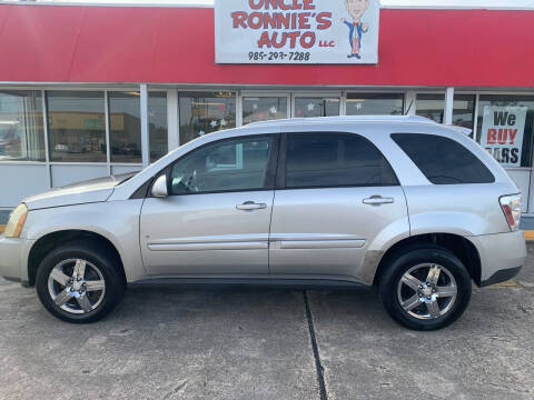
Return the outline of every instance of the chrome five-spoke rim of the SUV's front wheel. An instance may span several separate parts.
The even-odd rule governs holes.
[[[48,277],[48,292],[53,302],[70,313],[95,310],[106,294],[106,281],[100,270],[87,260],[63,260]]]

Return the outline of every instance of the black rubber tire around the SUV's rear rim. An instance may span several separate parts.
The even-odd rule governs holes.
[[[459,261],[451,251],[438,246],[421,244],[395,253],[386,262],[386,268],[379,280],[379,296],[387,313],[402,326],[413,330],[431,331],[449,326],[464,313],[471,300],[471,277],[462,261]],[[403,276],[409,269],[426,263],[439,264],[448,270],[454,277],[457,288],[456,298],[448,311],[444,312],[443,316],[432,319],[416,318],[405,311],[397,296],[399,290],[398,284]],[[447,279],[447,276],[441,279]],[[424,282],[424,284],[426,284],[426,282]],[[417,292],[414,293],[414,297],[416,294]],[[419,308],[412,310],[412,313],[422,312],[418,310],[425,310],[427,304],[421,303],[421,306],[417,307]],[[443,308],[443,311],[445,310],[446,307]]]

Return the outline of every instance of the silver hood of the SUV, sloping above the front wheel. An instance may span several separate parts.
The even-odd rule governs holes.
[[[28,206],[29,210],[101,202],[108,200],[117,184],[132,176],[134,173],[126,173],[68,184],[41,194],[31,196],[22,202]]]

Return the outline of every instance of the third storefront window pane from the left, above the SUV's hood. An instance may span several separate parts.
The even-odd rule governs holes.
[[[139,92],[108,92],[111,162],[142,163]]]

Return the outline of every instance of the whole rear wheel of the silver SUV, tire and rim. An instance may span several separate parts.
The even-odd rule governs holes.
[[[471,299],[471,277],[448,250],[425,247],[398,253],[379,292],[394,320],[414,330],[436,330],[457,320]]]

